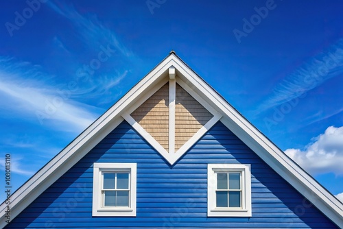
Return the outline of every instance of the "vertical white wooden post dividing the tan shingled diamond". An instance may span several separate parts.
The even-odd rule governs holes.
[[[169,154],[175,153],[175,97],[176,80],[174,78],[169,80]]]

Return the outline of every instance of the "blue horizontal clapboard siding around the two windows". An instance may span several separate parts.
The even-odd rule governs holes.
[[[137,162],[137,217],[92,217],[93,162]],[[208,163],[249,163],[252,217],[206,217]],[[173,167],[123,121],[7,228],[336,228],[218,122]]]

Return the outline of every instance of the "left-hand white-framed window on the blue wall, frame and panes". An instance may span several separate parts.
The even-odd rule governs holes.
[[[94,163],[93,216],[136,216],[137,164]]]

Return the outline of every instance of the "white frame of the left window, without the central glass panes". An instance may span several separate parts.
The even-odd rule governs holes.
[[[102,185],[104,172],[128,172],[129,206],[103,206]],[[94,163],[93,164],[93,216],[136,216],[137,163]]]

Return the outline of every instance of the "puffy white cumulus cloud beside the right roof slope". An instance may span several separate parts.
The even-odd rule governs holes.
[[[343,126],[330,126],[305,149],[286,149],[285,154],[312,175],[335,173],[343,175]]]

